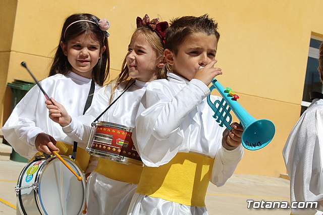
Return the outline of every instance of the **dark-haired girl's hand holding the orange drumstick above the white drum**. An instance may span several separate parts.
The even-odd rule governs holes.
[[[37,151],[51,154],[52,151],[59,151],[60,149],[55,146],[56,140],[46,133],[39,133],[35,140],[35,147]]]

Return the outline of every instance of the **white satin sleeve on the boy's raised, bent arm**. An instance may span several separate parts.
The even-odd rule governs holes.
[[[150,167],[167,164],[177,154],[183,141],[180,124],[210,92],[197,79],[179,92],[172,90],[163,87],[162,82],[151,82],[139,105],[137,147],[141,159]]]

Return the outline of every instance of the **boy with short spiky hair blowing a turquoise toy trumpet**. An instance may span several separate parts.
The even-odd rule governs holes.
[[[128,214],[207,214],[208,182],[222,186],[243,155],[243,128],[228,131],[207,104],[220,34],[207,15],[172,21],[165,39],[168,80],[146,88],[136,118],[135,146],[144,163]],[[212,99],[220,99],[211,96]]]

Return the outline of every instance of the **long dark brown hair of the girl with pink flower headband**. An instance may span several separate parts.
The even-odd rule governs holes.
[[[69,16],[64,22],[60,43],[62,41],[66,44],[69,40],[86,33],[92,34],[95,37],[93,39],[99,41],[100,49],[105,45],[105,51],[102,53],[101,58],[98,60],[97,64],[94,66],[92,71],[92,79],[98,85],[102,86],[107,76],[109,75],[110,70],[110,51],[107,38],[104,36],[100,28],[96,24],[91,22],[77,22],[69,26],[71,23],[78,20],[93,21],[92,17],[95,17],[97,20],[99,20],[96,16],[93,16],[92,14],[73,14]],[[66,30],[67,27],[68,29]],[[55,53],[55,57],[53,58],[48,76],[56,74],[64,75],[69,73],[71,70],[72,66],[69,63],[67,56],[64,55],[63,49],[59,44]]]

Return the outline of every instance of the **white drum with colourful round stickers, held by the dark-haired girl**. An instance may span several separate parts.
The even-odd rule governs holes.
[[[73,160],[62,157],[82,177],[82,181],[78,181],[56,156],[33,160],[20,173],[15,188],[21,214],[82,213],[86,196],[85,177]]]

